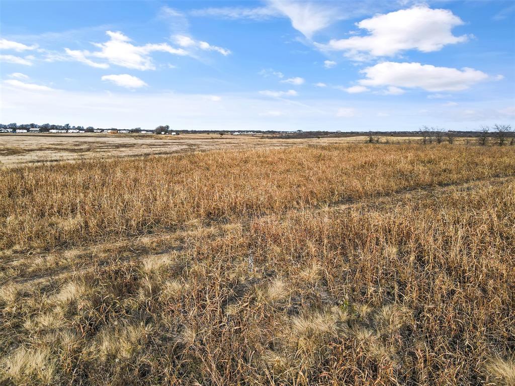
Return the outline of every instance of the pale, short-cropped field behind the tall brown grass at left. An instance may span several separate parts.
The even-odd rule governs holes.
[[[404,138],[405,139],[405,138]],[[402,139],[401,139],[402,140]],[[271,148],[365,142],[365,137],[284,139],[265,135],[183,134],[2,134],[0,166],[13,167],[85,159],[169,155],[216,149]]]

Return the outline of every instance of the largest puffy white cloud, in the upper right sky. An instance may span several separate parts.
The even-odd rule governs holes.
[[[331,40],[317,44],[323,50],[346,51],[355,60],[367,57],[393,56],[399,52],[417,49],[422,52],[438,51],[444,45],[467,41],[468,36],[454,36],[452,29],[464,22],[446,9],[415,6],[380,14],[357,23],[368,31],[367,36]]]

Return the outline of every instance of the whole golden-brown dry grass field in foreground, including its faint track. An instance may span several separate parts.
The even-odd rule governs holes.
[[[276,146],[0,169],[0,383],[515,384],[515,147]]]

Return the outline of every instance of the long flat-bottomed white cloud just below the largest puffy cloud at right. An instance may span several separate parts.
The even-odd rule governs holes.
[[[361,71],[364,86],[418,87],[426,91],[460,91],[488,75],[473,68],[435,67],[430,64],[383,62]]]

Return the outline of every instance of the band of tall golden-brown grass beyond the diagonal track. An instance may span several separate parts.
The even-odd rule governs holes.
[[[357,146],[215,151],[0,171],[0,248],[52,249],[502,176],[511,148]]]

